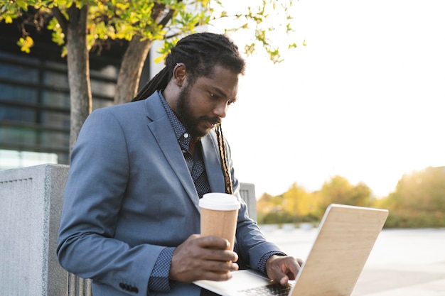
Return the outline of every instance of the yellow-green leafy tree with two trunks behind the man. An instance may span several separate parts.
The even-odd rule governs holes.
[[[68,81],[70,86],[71,128],[70,150],[73,148],[80,127],[92,110],[90,87],[90,50],[100,47],[110,40],[127,40],[127,49],[122,59],[114,97],[116,104],[129,102],[137,92],[141,70],[147,53],[154,40],[164,40],[161,53],[178,40],[178,36],[195,32],[215,18],[233,18],[235,27],[230,30],[252,28],[255,39],[246,46],[247,53],[252,53],[259,43],[269,53],[273,62],[279,62],[278,48],[274,48],[268,36],[274,31],[265,26],[268,18],[267,9],[280,10],[283,19],[289,22],[288,8],[292,1],[262,0],[257,6],[247,6],[247,11],[229,14],[222,9],[221,1],[212,1],[220,8],[215,15],[215,8],[210,0],[0,0],[0,21],[12,23],[18,20],[23,25],[23,38],[18,45],[29,52],[33,45],[26,26],[46,27],[53,31],[53,41],[63,49],[62,55],[68,58]],[[253,26],[253,27],[252,27]],[[289,23],[283,24],[289,32]],[[295,47],[289,45],[289,47]]]

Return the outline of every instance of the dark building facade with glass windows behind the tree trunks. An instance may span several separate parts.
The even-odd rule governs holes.
[[[29,28],[32,31],[32,28]],[[69,164],[70,91],[66,59],[49,31],[31,32],[31,53],[22,53],[14,24],[0,23],[0,170],[43,163]],[[115,42],[90,53],[93,109],[113,104],[124,53]],[[149,59],[141,82],[149,77]]]

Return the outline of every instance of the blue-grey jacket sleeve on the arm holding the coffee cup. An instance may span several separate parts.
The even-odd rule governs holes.
[[[146,295],[165,248],[114,239],[127,187],[129,157],[119,122],[102,109],[82,126],[72,152],[58,234],[60,265],[70,273],[134,295]]]

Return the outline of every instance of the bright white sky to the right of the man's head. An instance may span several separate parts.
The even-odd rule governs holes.
[[[247,58],[223,121],[238,179],[259,198],[341,175],[383,197],[404,173],[445,165],[445,1],[300,0],[293,11],[298,47],[280,65]]]

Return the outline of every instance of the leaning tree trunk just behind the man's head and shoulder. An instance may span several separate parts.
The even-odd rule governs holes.
[[[136,97],[142,68],[149,54],[150,47],[151,40],[141,41],[141,38],[136,35],[129,42],[122,59],[119,76],[117,77],[114,104],[130,102]]]

